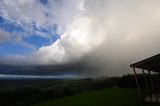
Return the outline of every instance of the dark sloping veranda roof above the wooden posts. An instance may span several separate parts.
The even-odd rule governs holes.
[[[137,63],[131,64],[130,67],[150,70],[154,72],[160,72],[160,54],[139,61]]]

